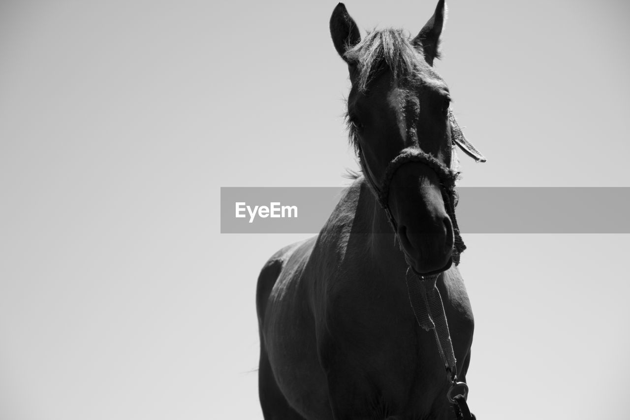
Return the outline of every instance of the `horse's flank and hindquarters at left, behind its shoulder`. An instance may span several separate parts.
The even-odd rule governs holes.
[[[288,416],[282,412],[277,414],[281,417],[273,418],[331,418],[325,377],[316,354],[307,288],[312,276],[306,267],[315,240],[309,238],[279,250],[265,264],[258,279],[261,366],[266,369],[260,372],[266,375],[265,401],[273,410],[284,407],[294,413]],[[276,394],[273,390],[277,390]],[[275,395],[277,400],[272,398],[269,402],[269,395]]]

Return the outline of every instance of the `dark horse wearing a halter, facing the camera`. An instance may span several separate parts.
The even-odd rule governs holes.
[[[433,68],[444,19],[440,0],[416,37],[385,29],[362,39],[342,3],[333,11],[361,174],[319,234],[273,254],[258,277],[266,420],[462,418],[450,393],[466,380],[474,318],[457,267],[455,145],[485,159]],[[421,302],[441,298],[438,313],[414,305],[414,288]]]

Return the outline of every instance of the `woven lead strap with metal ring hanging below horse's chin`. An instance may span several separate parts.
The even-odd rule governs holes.
[[[457,420],[475,420],[474,414],[468,409],[466,397],[468,395],[468,385],[465,382],[457,382],[457,360],[453,350],[453,342],[450,339],[449,324],[442,303],[442,296],[437,288],[437,279],[440,274],[430,276],[418,275],[418,281],[414,281],[410,276],[411,269],[408,267],[406,273],[407,290],[411,308],[416,316],[418,325],[425,331],[433,330],[438,353],[444,363],[447,380],[450,383],[447,399],[453,404]],[[410,281],[411,277],[411,281]],[[454,392],[457,392],[453,396]]]

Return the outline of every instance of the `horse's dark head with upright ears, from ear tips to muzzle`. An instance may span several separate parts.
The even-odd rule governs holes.
[[[333,44],[352,82],[350,141],[418,274],[447,269],[454,254],[456,122],[449,88],[433,68],[444,19],[440,0],[416,37],[386,29],[363,40],[342,3],[330,20]]]

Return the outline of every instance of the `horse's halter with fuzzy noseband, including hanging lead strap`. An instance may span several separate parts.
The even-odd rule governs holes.
[[[440,181],[440,192],[442,193],[442,199],[444,200],[444,207],[449,215],[453,233],[454,244],[451,252],[449,262],[445,267],[437,271],[420,274],[416,272],[409,260],[405,255],[405,259],[408,264],[406,272],[407,291],[409,293],[409,299],[411,308],[416,317],[416,321],[424,330],[433,330],[435,334],[435,342],[437,344],[438,353],[444,363],[444,368],[447,373],[447,380],[450,383],[449,391],[447,392],[447,399],[455,411],[457,419],[475,419],[474,414],[468,409],[466,398],[468,395],[468,386],[465,382],[457,381],[457,360],[455,359],[455,352],[453,350],[453,343],[450,339],[449,324],[444,311],[444,304],[442,303],[442,296],[438,290],[436,283],[438,277],[442,272],[447,271],[455,262],[455,265],[459,265],[460,254],[466,249],[464,241],[462,240],[459,226],[457,225],[457,219],[455,219],[455,206],[457,206],[458,195],[455,191],[455,181],[459,177],[457,172],[457,153],[455,152],[455,146],[459,146],[467,155],[473,157],[478,162],[486,161],[486,158],[469,143],[464,137],[455,116],[449,108],[449,122],[451,130],[451,149],[450,149],[450,165],[447,167],[444,163],[440,162],[435,156],[429,155],[420,149],[419,146],[413,146],[403,149],[398,156],[392,159],[387,167],[380,183],[376,183],[374,175],[370,171],[370,168],[365,164],[365,158],[363,151],[359,147],[360,165],[365,178],[370,185],[370,188],[374,191],[379,204],[387,214],[387,219],[394,230],[394,235],[398,237],[398,224],[396,219],[389,209],[389,189],[391,185],[394,173],[400,166],[409,162],[420,162],[427,165],[435,172]],[[418,277],[419,281],[414,281],[413,277],[410,281],[410,271]]]

